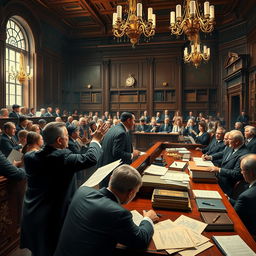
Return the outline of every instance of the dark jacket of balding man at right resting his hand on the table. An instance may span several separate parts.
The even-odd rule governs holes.
[[[240,158],[249,153],[245,145],[240,147],[235,153],[233,148],[228,148],[223,154],[221,171],[218,174],[218,182],[224,193],[229,197],[232,194],[235,183],[243,179],[240,171]]]

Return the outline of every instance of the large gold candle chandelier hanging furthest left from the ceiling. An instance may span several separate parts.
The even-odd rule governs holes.
[[[134,47],[143,34],[151,37],[155,34],[156,15],[153,9],[148,8],[148,21],[142,18],[142,4],[137,0],[129,0],[129,10],[127,19],[122,19],[122,6],[117,6],[117,12],[113,13],[113,34],[115,37],[127,35]]]

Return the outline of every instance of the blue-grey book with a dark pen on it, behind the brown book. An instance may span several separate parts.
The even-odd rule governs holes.
[[[196,199],[198,211],[200,212],[226,212],[226,207],[219,199]]]

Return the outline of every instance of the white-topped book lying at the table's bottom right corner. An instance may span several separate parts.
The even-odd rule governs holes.
[[[212,240],[225,256],[256,256],[239,235],[213,236]]]

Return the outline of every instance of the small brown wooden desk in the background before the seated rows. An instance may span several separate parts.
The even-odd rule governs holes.
[[[140,150],[146,151],[149,147],[153,146],[156,142],[178,142],[179,133],[166,133],[166,132],[134,132],[132,134],[133,146]]]

